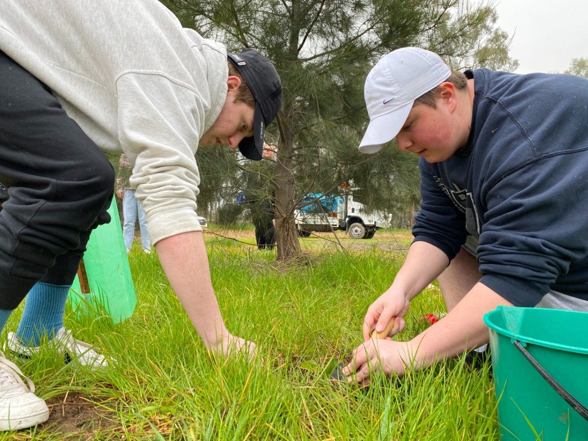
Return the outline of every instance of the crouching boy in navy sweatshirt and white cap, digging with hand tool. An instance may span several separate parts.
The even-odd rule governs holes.
[[[588,79],[452,73],[438,55],[402,48],[372,69],[365,98],[360,151],[396,138],[419,155],[422,202],[406,261],[369,307],[344,373],[368,382],[477,348],[499,305],[588,311]],[[434,279],[442,320],[409,342],[370,340],[392,319],[389,336],[400,332]]]

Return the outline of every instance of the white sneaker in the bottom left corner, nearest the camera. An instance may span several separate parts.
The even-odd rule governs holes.
[[[49,419],[49,407],[34,392],[33,382],[0,352],[0,430],[25,429]]]

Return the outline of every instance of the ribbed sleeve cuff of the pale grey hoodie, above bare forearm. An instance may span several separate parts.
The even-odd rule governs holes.
[[[147,232],[151,243],[191,231],[202,231],[198,214],[189,207],[154,213],[147,219]]]

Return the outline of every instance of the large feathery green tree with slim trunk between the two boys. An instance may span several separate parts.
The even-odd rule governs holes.
[[[414,203],[416,160],[383,149],[358,152],[368,123],[363,82],[380,56],[420,46],[454,68],[516,68],[492,4],[460,0],[164,0],[181,19],[230,50],[256,48],[275,65],[282,109],[266,141],[277,146],[268,191],[275,194],[278,258],[299,253],[293,212],[308,192],[352,183],[376,206]]]

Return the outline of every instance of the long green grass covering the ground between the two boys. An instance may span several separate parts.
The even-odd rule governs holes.
[[[316,252],[286,267],[275,251],[207,235],[226,325],[257,343],[253,365],[207,352],[155,254],[133,250],[138,303],[131,319],[113,325],[66,313],[66,327],[117,362],[92,372],[62,365],[51,350],[19,361],[51,403],[51,419],[0,439],[498,439],[493,383],[463,360],[379,377],[365,389],[330,385],[333,363],[361,342],[365,311],[403,255],[372,245],[338,252],[308,241],[303,248]],[[442,310],[439,290],[427,289],[398,338],[419,333],[423,313]]]

